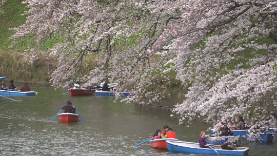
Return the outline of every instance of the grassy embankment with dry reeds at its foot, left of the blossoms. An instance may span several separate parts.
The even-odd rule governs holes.
[[[48,82],[49,73],[55,67],[52,61],[43,57],[34,64],[24,61],[23,52],[28,48],[27,43],[32,44],[32,38],[19,41],[16,47],[9,48],[12,43],[9,36],[13,33],[10,29],[24,24],[26,20],[26,16],[22,16],[22,13],[27,8],[21,2],[21,0],[9,0],[2,7],[3,13],[0,14],[0,75],[7,76],[8,80]]]

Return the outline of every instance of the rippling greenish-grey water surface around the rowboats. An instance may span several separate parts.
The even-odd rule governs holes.
[[[16,84],[21,86],[22,84]],[[114,103],[114,97],[62,95],[48,85],[31,84],[35,97],[0,99],[0,155],[195,155],[170,153],[135,143],[147,140],[156,129],[168,124],[177,139],[197,142],[209,125],[195,121],[179,125],[166,110]],[[67,100],[71,100],[85,122],[51,122]],[[250,143],[249,155],[277,155],[277,139],[270,144]]]

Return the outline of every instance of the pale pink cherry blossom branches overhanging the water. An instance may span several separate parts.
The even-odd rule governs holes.
[[[11,39],[34,37],[28,59],[43,52],[58,59],[54,87],[76,79],[96,84],[108,78],[135,95],[125,102],[159,102],[163,89],[181,81],[183,103],[172,111],[180,123],[205,116],[214,126],[240,115],[265,129],[277,110],[277,2],[193,1],[34,1],[27,21]],[[43,47],[56,40],[50,49]],[[97,65],[82,74],[84,59]],[[162,83],[156,80],[162,80]],[[153,84],[161,86],[152,88]],[[151,88],[151,89],[149,89]],[[148,99],[148,102],[144,102]]]

